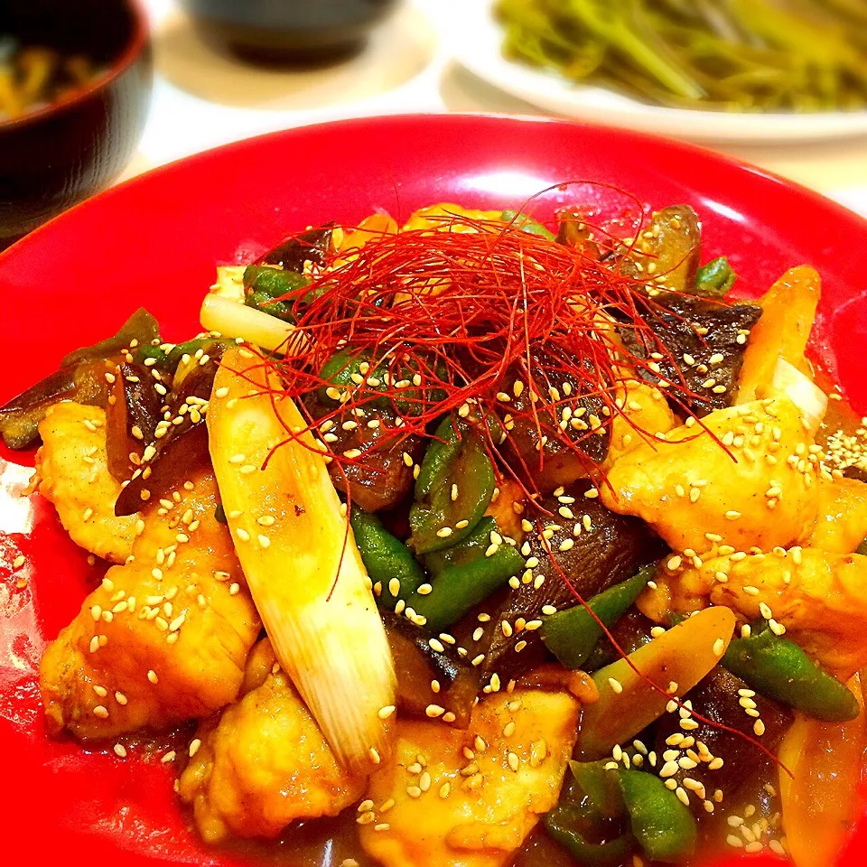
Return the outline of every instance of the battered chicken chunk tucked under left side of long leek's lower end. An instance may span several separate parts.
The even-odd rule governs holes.
[[[208,843],[228,834],[274,837],[296,819],[336,816],[364,791],[366,779],[340,767],[292,681],[273,670],[275,660],[264,639],[247,667],[245,683],[254,688],[219,722],[204,723],[182,774],[181,797]]]

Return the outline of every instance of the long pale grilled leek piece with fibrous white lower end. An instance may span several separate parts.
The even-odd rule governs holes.
[[[238,559],[277,658],[332,750],[369,769],[387,749],[379,711],[394,704],[394,667],[368,574],[306,427],[261,358],[228,350],[208,433]]]

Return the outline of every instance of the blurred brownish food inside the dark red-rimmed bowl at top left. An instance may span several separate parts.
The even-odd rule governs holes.
[[[0,122],[14,120],[85,89],[104,70],[83,54],[23,45],[0,33]]]

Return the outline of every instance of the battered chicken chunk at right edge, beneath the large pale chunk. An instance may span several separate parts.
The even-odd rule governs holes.
[[[711,601],[748,622],[770,614],[789,639],[841,679],[867,665],[867,556],[817,548],[735,554],[669,581],[672,611],[695,611]],[[666,593],[658,580],[657,586],[656,593]],[[641,608],[649,613],[647,605]]]

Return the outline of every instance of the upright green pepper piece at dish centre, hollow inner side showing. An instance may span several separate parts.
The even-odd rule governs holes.
[[[416,554],[439,551],[469,536],[489,506],[494,484],[494,467],[480,434],[446,416],[415,480],[409,545]]]

